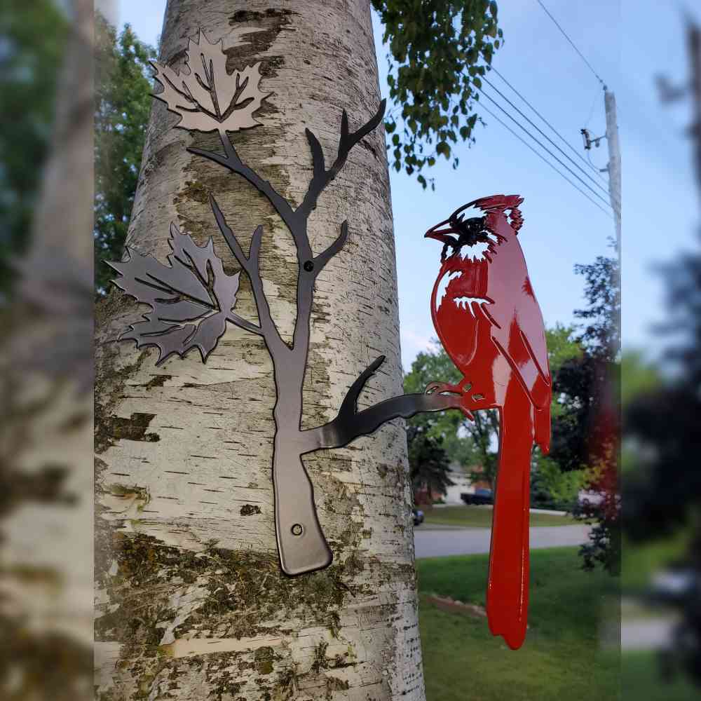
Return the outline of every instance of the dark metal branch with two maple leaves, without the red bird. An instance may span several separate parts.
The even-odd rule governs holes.
[[[262,336],[273,361],[277,390],[273,410],[275,533],[283,571],[298,575],[332,562],[332,552],[318,522],[313,486],[302,456],[320,448],[343,447],[359,436],[373,433],[393,418],[408,418],[420,411],[459,408],[461,397],[438,393],[401,395],[358,411],[360,393],[385,360],[381,355],[353,382],[336,418],[316,428],[301,429],[302,387],[315,281],[348,240],[348,222],[343,222],[334,243],[315,255],[307,235],[308,217],[322,191],[343,168],[351,149],[381,122],[385,101],[381,102],[376,114],[355,131],[351,131],[348,115],[343,111],[338,154],[330,168],[326,167],[317,137],[306,130],[313,177],[302,203],[295,209],[269,182],[241,161],[227,133],[257,125],[253,113],[266,97],[259,90],[259,64],[232,75],[226,72],[225,64],[223,47],[210,43],[200,32],[198,41],[188,43],[186,66],[182,72],[154,64],[156,80],[163,86],[163,91],[154,97],[163,100],[170,111],[181,117],[178,128],[217,130],[224,154],[203,149],[188,150],[245,178],[268,198],[290,230],[299,265],[297,319],[292,345],[285,343],[280,336],[261,280],[259,257],[263,228],[258,226],[254,231],[246,254],[214,196],[210,196],[212,212],[219,231],[250,280],[258,324],[233,313],[239,273],[233,276],[224,273],[211,239],[204,247],[198,247],[189,236],[172,225],[170,245],[173,252],[168,256],[169,266],[130,250],[125,261],[110,264],[121,273],[121,277],[113,282],[138,301],[149,304],[152,310],[144,315],[144,321],[132,325],[120,338],[135,340],[138,347],[157,346],[160,363],[169,355],[182,356],[192,348],[198,348],[203,361],[206,360],[224,334],[227,322]]]

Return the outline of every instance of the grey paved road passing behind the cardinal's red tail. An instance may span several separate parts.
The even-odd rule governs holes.
[[[591,526],[537,526],[531,529],[531,548],[580,545]],[[416,557],[443,557],[489,552],[491,529],[436,528],[422,524],[414,529]]]

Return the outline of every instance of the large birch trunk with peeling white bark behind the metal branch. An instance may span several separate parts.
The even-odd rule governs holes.
[[[304,129],[327,162],[341,112],[351,128],[376,112],[369,1],[169,0],[161,63],[182,65],[187,38],[223,39],[229,70],[262,61],[262,126],[232,142],[290,203],[313,177]],[[173,130],[156,104],[128,245],[161,261],[175,222],[212,236],[224,271],[239,265],[209,203],[216,196],[243,250],[264,227],[261,278],[288,343],[297,252],[266,198],[191,152],[216,133]],[[395,251],[382,128],[358,144],[308,221],[315,252],[348,219],[349,238],[315,280],[301,428],[336,416],[378,355],[359,408],[402,393]],[[236,311],[255,322],[248,280]],[[259,336],[229,327],[203,365],[196,353],[156,367],[154,351],[114,343],[143,307],[112,294],[98,311],[96,404],[97,697],[423,700],[406,442],[388,423],[350,447],[304,456],[334,555],[322,571],[280,571],[271,465],[275,384]]]

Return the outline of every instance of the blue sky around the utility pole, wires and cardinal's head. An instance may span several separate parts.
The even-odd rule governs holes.
[[[687,79],[681,11],[676,4],[655,0],[544,3],[618,101],[623,343],[624,348],[643,348],[655,355],[663,339],[655,334],[653,325],[664,319],[665,301],[663,280],[653,267],[695,246],[698,224],[690,142],[685,135],[689,104],[660,104],[654,83],[657,74],[666,75],[674,84]],[[120,25],[129,22],[141,39],[155,43],[164,8],[165,0],[120,0],[116,19]],[[536,0],[500,1],[499,21],[505,43],[494,57],[498,71],[576,149],[581,150],[583,126],[594,135],[603,134],[601,86]],[[379,45],[379,22],[375,22],[375,39]],[[378,46],[384,93],[385,55]],[[491,74],[489,79],[549,133],[498,76]],[[491,103],[485,104],[509,121]],[[548,325],[572,322],[573,309],[583,306],[583,280],[573,273],[574,264],[611,252],[607,247],[614,233],[611,219],[494,118],[485,114],[484,121],[486,127],[476,130],[475,145],[469,149],[458,145],[458,170],[440,158],[440,164],[428,172],[435,177],[435,192],[422,191],[412,177],[392,171],[405,368],[435,336],[428,300],[439,251],[433,242],[423,240],[423,232],[458,205],[494,193],[524,196],[525,224],[519,238]],[[606,165],[605,141],[601,148],[592,149],[591,157],[597,166]]]

